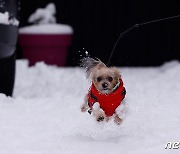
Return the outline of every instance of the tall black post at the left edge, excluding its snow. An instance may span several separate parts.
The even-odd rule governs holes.
[[[0,13],[8,12],[9,20],[17,19],[17,0],[0,0]],[[18,27],[0,23],[0,93],[12,96],[15,80],[15,49]]]

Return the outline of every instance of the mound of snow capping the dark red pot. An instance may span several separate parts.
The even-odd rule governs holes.
[[[56,6],[49,3],[45,8],[37,9],[30,15],[28,22],[35,25],[19,29],[20,34],[72,34],[73,29],[69,25],[56,24]]]

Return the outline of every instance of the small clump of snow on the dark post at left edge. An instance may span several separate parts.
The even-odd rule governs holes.
[[[15,17],[11,17],[9,12],[0,12],[0,24],[19,26],[19,21]]]

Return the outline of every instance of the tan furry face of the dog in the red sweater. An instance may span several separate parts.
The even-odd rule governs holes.
[[[91,73],[92,82],[96,89],[102,94],[110,94],[119,82],[120,74],[116,68],[106,66],[95,67]]]

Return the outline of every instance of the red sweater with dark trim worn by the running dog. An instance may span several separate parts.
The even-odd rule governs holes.
[[[122,100],[126,95],[126,90],[123,86],[122,79],[120,80],[120,85],[115,89],[113,93],[110,94],[101,94],[94,86],[91,85],[88,93],[88,104],[92,109],[92,106],[95,102],[98,102],[100,108],[105,112],[106,116],[112,116],[116,108],[121,104]]]

